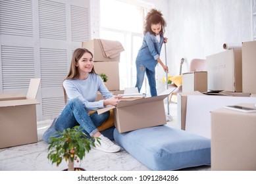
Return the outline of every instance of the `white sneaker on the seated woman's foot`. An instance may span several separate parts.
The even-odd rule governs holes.
[[[102,150],[104,152],[118,152],[120,150],[120,147],[118,145],[115,145],[111,140],[109,140],[107,137],[104,135],[99,136],[99,142],[95,140],[95,147],[94,149],[96,150]]]

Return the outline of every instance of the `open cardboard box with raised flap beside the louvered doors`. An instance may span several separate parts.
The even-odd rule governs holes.
[[[36,94],[40,79],[30,80],[26,96],[20,93],[0,94],[0,149],[36,143]]]

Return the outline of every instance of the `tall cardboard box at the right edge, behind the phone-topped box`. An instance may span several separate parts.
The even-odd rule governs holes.
[[[256,93],[256,41],[242,43],[243,93]]]

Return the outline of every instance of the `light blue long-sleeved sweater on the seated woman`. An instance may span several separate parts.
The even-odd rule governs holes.
[[[101,77],[97,74],[89,73],[86,80],[64,80],[63,87],[66,90],[67,100],[70,101],[70,99],[78,97],[84,104],[87,112],[104,107],[103,100],[95,101],[97,91],[99,91],[105,99],[113,97]]]

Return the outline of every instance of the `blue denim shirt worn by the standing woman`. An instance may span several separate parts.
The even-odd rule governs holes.
[[[159,43],[155,35],[146,32],[143,37],[143,43],[140,47],[136,60],[138,60],[139,62],[144,64],[146,68],[154,72],[155,66],[157,66],[157,58],[160,57],[163,42],[163,35],[160,35]]]

